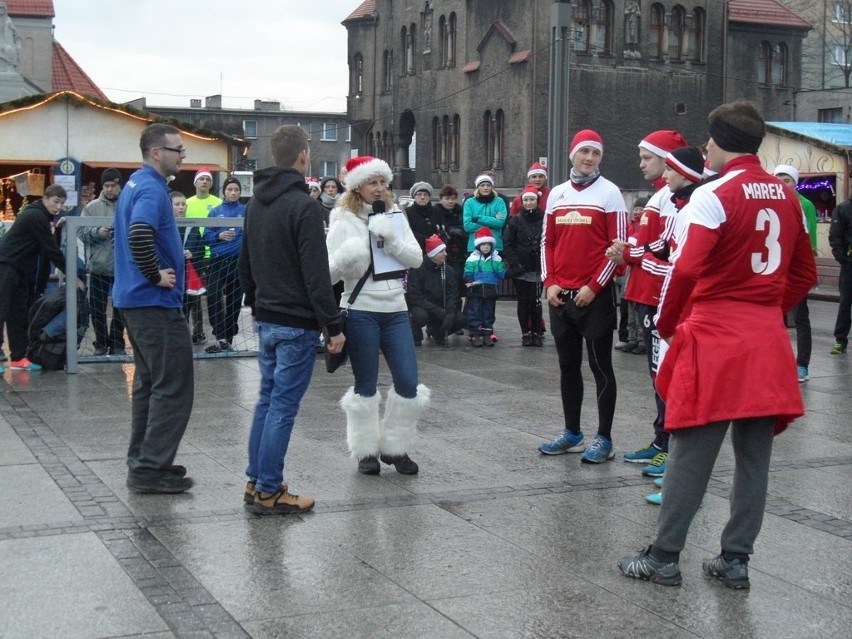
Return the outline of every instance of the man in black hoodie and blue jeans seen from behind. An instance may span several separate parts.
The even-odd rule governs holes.
[[[311,381],[319,331],[339,353],[346,338],[325,247],[322,206],[305,184],[308,137],[281,126],[270,141],[275,166],[254,174],[240,250],[240,281],[256,320],[260,399],[249,435],[244,502],[258,514],[305,512],[311,497],[289,492],[284,457],[299,404]]]

